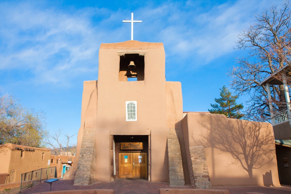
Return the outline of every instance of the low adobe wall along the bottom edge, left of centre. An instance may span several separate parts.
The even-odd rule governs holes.
[[[114,189],[88,189],[88,190],[68,190],[68,191],[48,191],[33,194],[113,194]]]

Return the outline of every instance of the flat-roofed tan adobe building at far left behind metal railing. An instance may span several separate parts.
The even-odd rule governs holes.
[[[15,149],[15,147],[22,149],[22,157],[22,151]],[[25,151],[24,148],[34,149],[34,151]],[[19,182],[22,173],[47,167],[48,160],[50,160],[50,150],[9,143],[0,145],[0,159],[3,161],[0,173],[9,174],[7,183]]]

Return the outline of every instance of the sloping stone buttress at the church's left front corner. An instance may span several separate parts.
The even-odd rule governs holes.
[[[74,185],[89,185],[95,181],[95,129],[85,128]]]

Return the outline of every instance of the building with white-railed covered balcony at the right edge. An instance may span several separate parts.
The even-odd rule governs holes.
[[[290,71],[289,64],[284,65],[274,74],[264,79],[260,85],[267,88],[268,104],[270,111],[270,120],[274,129],[274,137],[276,144],[276,158],[278,164],[278,172],[281,184],[291,184],[291,166],[288,161],[291,160],[291,104],[290,104]],[[274,103],[271,86],[283,86],[285,102],[281,103],[281,110],[278,110]]]

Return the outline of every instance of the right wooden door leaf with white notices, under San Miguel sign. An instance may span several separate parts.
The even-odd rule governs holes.
[[[133,153],[133,178],[147,178],[147,160],[146,152]]]

